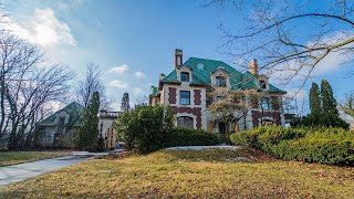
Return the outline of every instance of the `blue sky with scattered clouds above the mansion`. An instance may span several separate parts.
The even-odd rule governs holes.
[[[136,97],[148,94],[152,84],[157,84],[159,73],[174,69],[176,48],[184,50],[184,60],[197,56],[231,63],[230,57],[217,52],[221,44],[218,25],[227,22],[237,28],[242,23],[229,10],[202,8],[200,1],[191,0],[12,0],[7,3],[13,29],[43,48],[48,61],[66,64],[79,76],[88,62],[98,64],[107,95],[115,98],[115,109],[124,92],[129,92],[134,103]],[[336,62],[329,64],[311,81],[320,83],[321,78],[327,78],[341,101],[344,93],[353,90],[350,86],[353,78],[343,78],[352,70],[350,65],[335,65]],[[302,90],[305,100],[311,81]],[[295,90],[289,85],[282,88]]]

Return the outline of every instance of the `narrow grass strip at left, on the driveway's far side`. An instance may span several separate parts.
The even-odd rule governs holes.
[[[70,151],[0,151],[0,167],[70,155]]]

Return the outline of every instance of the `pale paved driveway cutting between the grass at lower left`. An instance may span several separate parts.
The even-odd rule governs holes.
[[[90,158],[91,157],[87,156],[64,156],[53,159],[0,167],[0,187],[67,167]]]

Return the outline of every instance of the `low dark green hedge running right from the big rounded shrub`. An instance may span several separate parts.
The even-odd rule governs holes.
[[[220,143],[220,137],[205,130],[177,127],[170,129],[164,138],[164,147],[174,146],[208,146]]]

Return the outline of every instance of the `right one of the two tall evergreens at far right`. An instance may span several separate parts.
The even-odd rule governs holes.
[[[333,90],[326,80],[321,82],[322,107],[325,113],[339,114],[336,101],[333,96]]]

